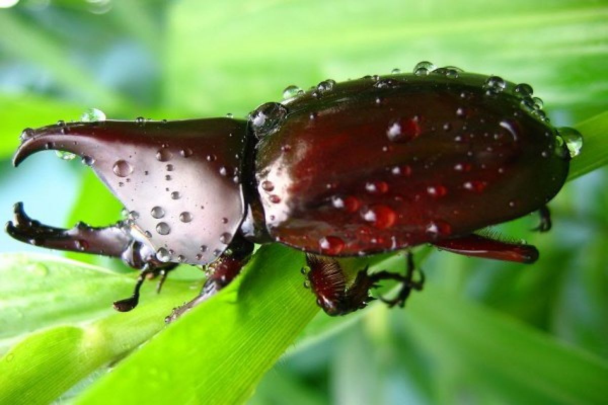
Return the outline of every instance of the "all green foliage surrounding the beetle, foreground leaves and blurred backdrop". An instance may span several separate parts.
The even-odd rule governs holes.
[[[41,154],[13,171],[26,126],[89,107],[123,119],[243,117],[289,84],[421,60],[530,83],[554,123],[586,136],[573,174],[606,163],[606,2],[21,0],[0,9],[0,216],[24,200],[57,225],[119,217],[78,162]],[[140,307],[114,313],[133,285],[122,265],[38,256],[2,235],[1,250],[28,253],[0,256],[0,403],[606,403],[606,185],[605,169],[568,183],[548,234],[529,231],[535,216],[502,226],[539,247],[534,265],[423,248],[429,282],[405,310],[337,319],[302,287],[302,254],[278,245],[163,329],[196,294],[198,271],[181,269],[160,296],[147,285]]]

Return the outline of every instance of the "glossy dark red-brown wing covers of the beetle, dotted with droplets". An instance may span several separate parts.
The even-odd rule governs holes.
[[[455,72],[455,74],[454,74]],[[322,83],[255,121],[268,232],[350,256],[471,233],[547,203],[568,172],[527,85],[451,69]],[[272,134],[272,136],[269,136]]]

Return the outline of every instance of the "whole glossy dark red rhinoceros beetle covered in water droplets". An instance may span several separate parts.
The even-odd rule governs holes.
[[[467,256],[532,263],[535,247],[479,230],[541,214],[568,174],[573,129],[556,129],[527,84],[455,67],[416,65],[345,83],[286,89],[247,119],[73,122],[26,129],[14,163],[44,149],[80,155],[130,216],[94,228],[52,228],[21,203],[8,233],[33,245],[120,257],[147,277],[178,264],[207,265],[198,297],[234,279],[254,243],[304,251],[309,284],[330,315],[365,307],[383,280],[420,290],[412,255],[404,274],[359,271],[347,279],[336,257],[368,256],[430,243]],[[568,136],[566,140],[564,137]],[[576,151],[574,151],[576,153]],[[160,285],[159,284],[159,285]]]

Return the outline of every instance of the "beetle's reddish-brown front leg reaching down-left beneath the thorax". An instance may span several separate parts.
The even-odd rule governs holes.
[[[181,307],[174,308],[171,314],[165,318],[165,322],[168,324],[175,321],[179,316],[196,307],[201,302],[206,301],[206,299],[230,284],[241,273],[241,269],[247,263],[253,251],[253,242],[249,242],[249,240],[244,239],[240,235],[233,237],[232,242],[230,242],[224,253],[207,267],[209,277],[207,277],[205,284],[202,286],[201,293],[195,299],[192,299],[192,301],[186,302]]]

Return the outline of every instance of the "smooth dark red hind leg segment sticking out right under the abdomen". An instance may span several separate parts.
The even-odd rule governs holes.
[[[470,234],[433,242],[437,247],[466,256],[484,257],[486,259],[505,260],[530,264],[538,259],[538,250],[525,243],[510,243],[489,237]]]

